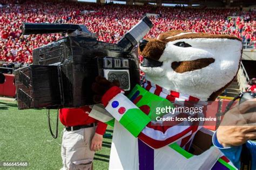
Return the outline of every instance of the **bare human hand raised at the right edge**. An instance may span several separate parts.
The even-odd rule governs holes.
[[[227,111],[217,130],[217,139],[224,147],[240,146],[256,139],[256,112],[246,113],[256,107],[256,98],[245,101]]]

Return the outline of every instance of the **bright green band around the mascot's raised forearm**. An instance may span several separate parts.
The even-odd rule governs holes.
[[[139,109],[127,110],[119,121],[134,137],[137,137],[149,122],[150,117]]]

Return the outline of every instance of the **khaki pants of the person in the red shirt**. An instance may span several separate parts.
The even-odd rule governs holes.
[[[90,146],[95,130],[96,126],[76,131],[64,129],[62,138],[63,170],[92,169],[95,152],[90,150]]]

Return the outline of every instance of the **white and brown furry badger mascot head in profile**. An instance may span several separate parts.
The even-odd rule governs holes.
[[[241,51],[234,36],[173,30],[140,41],[140,69],[167,90],[213,101],[237,75]]]

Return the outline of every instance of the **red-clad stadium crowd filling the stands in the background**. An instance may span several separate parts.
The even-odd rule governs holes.
[[[91,32],[97,33],[98,40],[116,43],[145,13],[158,13],[158,17],[151,17],[154,27],[146,37],[156,38],[162,32],[176,29],[231,34],[250,44],[255,41],[253,33],[255,11],[75,2],[35,3],[26,1],[22,4],[15,4],[15,1],[2,1],[2,4],[4,3],[6,4],[0,7],[0,61],[5,62],[32,63],[33,48],[65,36],[60,33],[22,35],[20,29],[22,22],[83,24]],[[91,12],[84,13],[85,10]],[[228,16],[240,17],[228,18]]]

